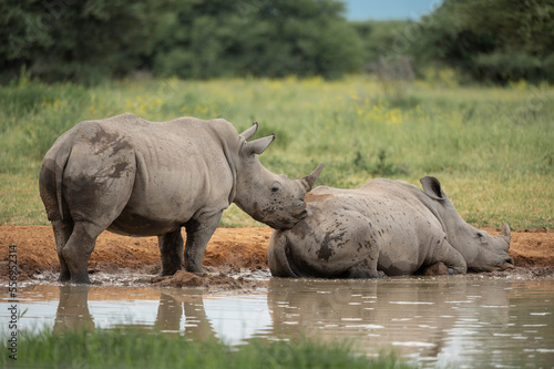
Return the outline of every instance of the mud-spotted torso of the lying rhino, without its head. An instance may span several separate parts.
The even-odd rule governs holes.
[[[430,234],[442,237],[440,224],[412,188],[396,181],[359,189],[320,186],[306,201],[310,215],[287,237],[291,257],[319,274],[340,275],[372,247],[379,247],[379,269],[387,275],[413,273],[429,253]]]

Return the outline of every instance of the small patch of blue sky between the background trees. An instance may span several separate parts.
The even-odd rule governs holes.
[[[418,20],[431,12],[441,0],[342,0],[347,4],[348,20]]]

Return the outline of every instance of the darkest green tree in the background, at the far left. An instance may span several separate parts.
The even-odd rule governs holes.
[[[171,1],[7,0],[0,64],[10,74],[27,65],[44,80],[94,80],[143,68],[158,41]]]

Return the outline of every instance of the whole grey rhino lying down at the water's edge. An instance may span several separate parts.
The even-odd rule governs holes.
[[[491,236],[466,224],[434,177],[423,191],[373,180],[358,189],[319,186],[308,216],[274,230],[268,259],[277,277],[377,278],[412,275],[444,263],[450,273],[513,267],[510,227]]]

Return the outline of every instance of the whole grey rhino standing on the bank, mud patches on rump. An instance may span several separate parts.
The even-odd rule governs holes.
[[[230,203],[274,228],[306,216],[304,197],[321,165],[301,180],[267,171],[257,156],[274,135],[247,142],[227,121],[147,122],[133,114],[86,121],[47,153],[40,195],[52,222],[61,281],[90,283],[89,257],[104,230],[158,236],[162,275],[201,273],[207,242]]]

